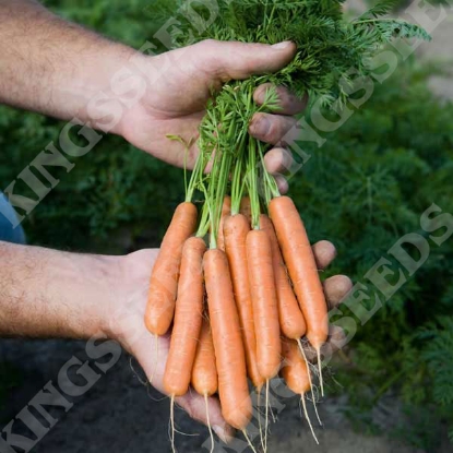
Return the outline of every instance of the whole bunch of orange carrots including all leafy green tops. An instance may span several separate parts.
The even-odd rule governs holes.
[[[343,3],[218,0],[214,24],[193,34],[192,21],[180,14],[172,36],[175,47],[208,38],[291,40],[297,47],[283,70],[229,82],[206,106],[200,155],[190,182],[186,175],[186,202],[176,210],[154,265],[146,309],[146,326],[156,337],[172,326],[164,377],[171,401],[192,385],[207,409],[207,397],[218,393],[224,418],[246,437],[252,417],[249,381],[267,395],[270,380],[279,373],[303,405],[312,392],[303,337],[318,354],[323,393],[320,355],[329,330],[303,223],[264,167],[266,145],[248,133],[255,114],[278,111],[276,90],[269,90],[260,106],[253,94],[262,84],[284,85],[338,112],[349,95],[357,97],[350,68],[360,80],[371,71],[365,62],[393,38],[429,39],[416,25],[381,20],[391,2],[354,21],[343,17]]]

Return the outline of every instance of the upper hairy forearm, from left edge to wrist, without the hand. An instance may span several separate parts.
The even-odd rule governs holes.
[[[60,119],[90,121],[90,100],[135,55],[33,0],[0,0],[0,103]]]

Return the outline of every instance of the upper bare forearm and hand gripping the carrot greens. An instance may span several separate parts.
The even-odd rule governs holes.
[[[0,103],[63,120],[78,117],[179,167],[184,164],[186,150],[166,135],[177,134],[187,142],[196,139],[213,88],[220,88],[231,79],[276,71],[296,51],[293,43],[271,47],[206,40],[148,57],[70,24],[31,0],[0,0]],[[111,86],[112,76],[120,70],[130,75],[131,91],[123,96]],[[139,86],[143,95],[126,107]],[[264,100],[267,88],[262,85],[257,90],[257,103]],[[297,99],[285,88],[278,92],[278,115],[259,114],[250,124],[250,133],[270,144],[278,144],[296,123],[293,116],[307,104],[307,99]],[[112,106],[109,111],[119,114],[116,121],[91,103],[99,93]],[[187,160],[189,168],[196,155],[193,145]],[[266,157],[269,170],[279,172],[288,156],[277,146]]]

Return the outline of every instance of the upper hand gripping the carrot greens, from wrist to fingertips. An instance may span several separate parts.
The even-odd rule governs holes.
[[[219,90],[229,80],[275,72],[288,64],[295,52],[293,43],[272,47],[206,40],[158,57],[143,57],[153,82],[140,104],[123,114],[119,133],[153,156],[182,167],[184,148],[166,135],[180,135],[187,143],[198,138],[212,88]],[[257,90],[258,104],[263,103],[266,88],[262,85]],[[283,87],[277,92],[279,115],[258,114],[250,124],[253,136],[273,145],[295,126],[291,116],[301,112],[307,104],[307,99],[297,99]],[[193,145],[188,156],[189,168],[193,167],[198,153]],[[288,159],[284,150],[273,150],[266,156],[269,170],[281,172],[290,166]]]

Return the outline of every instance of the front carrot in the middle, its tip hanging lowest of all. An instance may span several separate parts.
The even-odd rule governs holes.
[[[222,414],[229,425],[245,431],[252,416],[252,402],[226,254],[218,249],[207,251],[204,254],[203,267]]]

